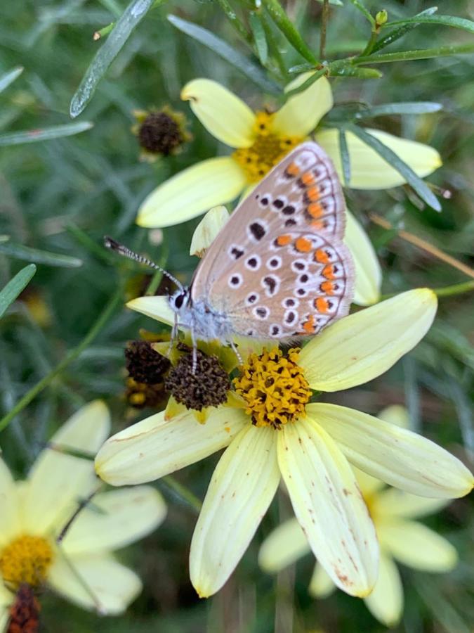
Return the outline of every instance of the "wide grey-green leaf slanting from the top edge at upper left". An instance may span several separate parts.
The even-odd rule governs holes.
[[[74,119],[91,100],[100,79],[107,72],[112,61],[117,57],[133,29],[145,18],[154,0],[133,0],[117,20],[114,30],[97,51],[91,65],[86,70],[79,88],[74,93],[70,105],[70,115]]]

